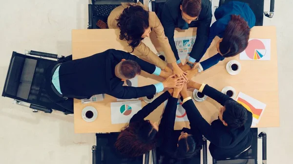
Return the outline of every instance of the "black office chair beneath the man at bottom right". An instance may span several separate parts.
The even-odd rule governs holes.
[[[212,164],[257,164],[257,139],[262,139],[262,163],[267,164],[267,134],[265,132],[257,135],[257,128],[251,128],[253,132],[252,145],[243,153],[230,158],[215,160]]]

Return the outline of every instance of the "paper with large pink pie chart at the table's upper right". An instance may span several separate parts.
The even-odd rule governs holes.
[[[271,39],[249,39],[240,60],[271,60]]]

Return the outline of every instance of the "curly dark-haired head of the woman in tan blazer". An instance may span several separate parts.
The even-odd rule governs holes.
[[[117,19],[117,26],[120,29],[120,39],[127,40],[132,48],[132,52],[141,43],[141,40],[149,37],[151,29],[148,18],[148,11],[142,6],[129,5]]]

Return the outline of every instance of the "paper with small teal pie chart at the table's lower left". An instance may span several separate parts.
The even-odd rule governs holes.
[[[141,109],[142,102],[140,100],[113,102],[111,103],[111,123],[129,123],[131,117]]]

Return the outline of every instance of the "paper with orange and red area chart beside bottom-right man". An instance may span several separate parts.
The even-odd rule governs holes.
[[[256,126],[256,124],[259,123],[267,105],[242,92],[239,92],[236,101],[251,111],[252,126]]]

